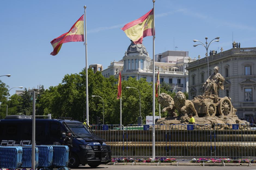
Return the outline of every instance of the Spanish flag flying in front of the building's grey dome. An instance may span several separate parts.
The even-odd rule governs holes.
[[[147,14],[121,28],[134,44],[142,44],[143,37],[153,36],[153,14],[154,11],[151,9]]]

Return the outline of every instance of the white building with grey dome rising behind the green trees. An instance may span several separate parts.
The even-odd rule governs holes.
[[[155,56],[157,60],[155,68],[153,68],[153,60],[145,46],[131,42],[122,60],[111,62],[110,66],[102,71],[102,75],[104,77],[114,75],[115,78],[118,78],[121,69],[123,80],[132,77],[137,80],[145,78],[147,82],[153,82],[153,70],[156,73],[156,81],[159,68],[160,83],[166,82],[172,87],[172,90],[176,88],[178,91],[188,92],[188,71],[185,69],[189,62],[188,52],[167,51]]]

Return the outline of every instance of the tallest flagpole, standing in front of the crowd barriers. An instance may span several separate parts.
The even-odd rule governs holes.
[[[152,125],[152,159],[155,159],[155,0],[153,0],[153,125]]]

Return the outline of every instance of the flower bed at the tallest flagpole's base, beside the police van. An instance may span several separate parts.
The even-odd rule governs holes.
[[[162,162],[162,163],[172,163],[172,162],[176,162],[175,158],[165,158],[165,157],[161,157],[161,158],[156,158],[155,160],[152,160],[152,158],[148,158],[148,159],[142,159],[142,158],[137,158],[137,159],[133,159],[133,158],[112,158],[111,162],[118,162],[118,163],[125,163],[125,162],[144,162],[144,163],[157,163],[157,162]]]

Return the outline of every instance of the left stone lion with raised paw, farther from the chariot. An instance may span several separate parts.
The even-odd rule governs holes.
[[[162,110],[163,113],[167,110],[169,116],[171,117],[177,116],[175,113],[174,101],[170,95],[166,93],[161,93],[158,97],[158,102],[160,103],[161,106],[164,107]]]

